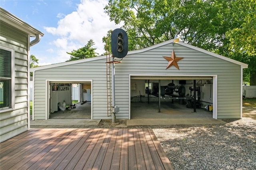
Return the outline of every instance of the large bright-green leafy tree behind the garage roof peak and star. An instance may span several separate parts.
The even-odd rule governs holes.
[[[175,34],[183,42],[212,49],[225,33],[220,30],[223,8],[202,0],[110,0],[104,9],[116,24],[124,22],[128,48],[134,50],[170,40]]]

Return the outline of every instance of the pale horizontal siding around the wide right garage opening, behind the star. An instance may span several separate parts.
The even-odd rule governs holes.
[[[176,57],[184,57],[178,62],[180,70],[172,66],[166,69],[167,61],[174,49]],[[218,75],[217,82],[217,118],[240,118],[241,66],[184,47],[179,44],[165,45],[144,53],[127,55],[122,63],[116,65],[116,105],[123,105],[123,97],[129,95],[128,75]],[[126,79],[124,79],[126,77]],[[124,87],[125,85],[125,87]],[[128,98],[126,98],[128,99]],[[231,100],[230,100],[231,99]],[[121,109],[120,109],[121,110]]]

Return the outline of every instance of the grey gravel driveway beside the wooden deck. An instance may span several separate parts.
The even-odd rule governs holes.
[[[175,170],[256,169],[256,121],[154,128]]]

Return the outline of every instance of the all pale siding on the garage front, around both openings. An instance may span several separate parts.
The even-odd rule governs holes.
[[[172,66],[166,69],[174,49],[176,57],[184,57],[178,62],[180,70]],[[111,119],[106,113],[106,59],[70,64],[35,72],[35,119],[45,119],[46,79],[92,79],[93,119]],[[217,107],[218,118],[240,118],[241,66],[202,53],[183,45],[169,43],[148,51],[128,53],[122,63],[115,64],[116,106],[120,112],[117,119],[129,119],[129,75],[218,75]]]

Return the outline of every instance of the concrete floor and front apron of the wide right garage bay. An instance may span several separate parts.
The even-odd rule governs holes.
[[[161,102],[158,112],[158,102],[131,103],[131,120],[127,126],[135,125],[208,125],[224,124],[224,121],[213,119],[212,112],[205,109],[186,108],[178,103]]]

